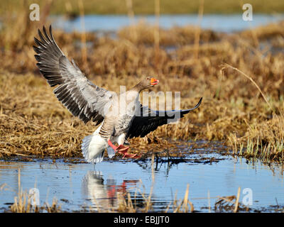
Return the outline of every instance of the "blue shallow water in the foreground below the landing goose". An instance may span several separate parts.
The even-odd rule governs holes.
[[[212,159],[214,158],[214,159]],[[210,163],[210,159],[213,160]],[[62,160],[35,162],[0,161],[0,208],[13,203],[18,192],[18,170],[21,187],[28,192],[39,190],[40,204],[52,203],[55,197],[64,211],[116,209],[117,197],[130,192],[133,203],[141,206],[141,194],[151,192],[153,210],[163,211],[173,199],[183,199],[189,184],[189,200],[195,211],[214,211],[217,196],[236,195],[241,187],[240,201],[251,193],[252,209],[269,211],[271,205],[284,205],[282,170],[261,162],[225,157],[217,153],[199,153],[186,162],[173,164],[167,160],[154,162],[154,183],[151,160],[139,162],[104,161],[92,164],[66,163]],[[244,192],[244,193],[243,193]],[[210,196],[211,199],[208,199]],[[135,201],[134,201],[135,198]],[[170,210],[171,211],[170,206]]]

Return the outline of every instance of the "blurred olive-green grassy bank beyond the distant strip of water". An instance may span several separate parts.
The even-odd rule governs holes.
[[[80,1],[62,0],[62,1],[43,1],[43,0],[11,0],[1,3],[1,14],[7,10],[17,11],[21,5],[39,4],[40,8],[50,2],[52,4],[51,13],[53,14],[80,14]],[[130,4],[129,4],[130,3]],[[242,13],[242,6],[247,2],[235,0],[217,0],[212,1],[188,1],[188,0],[160,0],[160,13],[162,14],[187,14],[198,13],[200,4],[203,5],[204,13]],[[251,0],[249,3],[253,6],[253,13],[283,13],[284,2],[281,0],[265,1]],[[155,1],[153,0],[82,0],[84,13],[86,14],[128,14],[129,9],[135,14],[155,14]],[[132,5],[132,6],[131,6]]]

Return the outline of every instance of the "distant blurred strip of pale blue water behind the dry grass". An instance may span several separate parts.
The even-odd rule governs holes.
[[[70,31],[83,31],[82,21],[80,17],[73,20],[66,20],[62,16],[52,16],[53,26],[55,28],[62,28],[67,32]],[[284,19],[283,14],[271,16],[266,14],[253,14],[253,21],[244,21],[242,13],[219,15],[208,14],[202,17],[200,22],[198,15],[161,15],[159,18],[160,28],[172,28],[173,26],[199,26],[204,29],[212,29],[213,31],[220,31],[231,33],[234,31],[241,31],[256,26],[266,25],[268,23],[280,21]],[[155,25],[155,16],[135,16],[133,23],[138,21],[145,21],[151,25]],[[87,15],[84,16],[85,31],[117,31],[124,26],[131,25],[128,16],[119,15]]]

